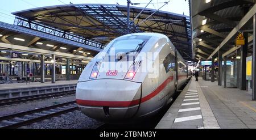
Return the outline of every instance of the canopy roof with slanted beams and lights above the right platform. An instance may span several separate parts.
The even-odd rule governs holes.
[[[235,44],[239,32],[248,32],[249,42],[252,41],[252,24],[242,21],[250,20],[245,15],[254,4],[250,0],[190,0],[194,57],[209,60],[218,55],[218,50],[236,55],[234,51],[240,48]],[[237,28],[240,24],[242,27]],[[250,44],[249,53],[251,49]]]

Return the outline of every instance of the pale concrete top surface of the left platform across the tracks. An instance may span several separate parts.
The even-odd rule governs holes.
[[[76,84],[77,80],[60,80],[55,83],[51,82],[28,82],[28,83],[10,83],[10,84],[0,84],[0,90],[9,90],[9,89],[19,89],[19,88],[30,88],[30,87],[46,87],[46,86],[59,86],[65,84]]]

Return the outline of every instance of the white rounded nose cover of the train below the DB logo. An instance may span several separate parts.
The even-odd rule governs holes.
[[[101,121],[133,117],[141,100],[141,83],[117,79],[97,79],[77,83],[76,100],[81,111]]]

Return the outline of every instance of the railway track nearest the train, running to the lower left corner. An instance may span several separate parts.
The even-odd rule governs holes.
[[[20,126],[46,120],[47,118],[75,111],[76,109],[79,109],[76,101],[69,101],[67,103],[1,116],[0,128],[19,128]]]

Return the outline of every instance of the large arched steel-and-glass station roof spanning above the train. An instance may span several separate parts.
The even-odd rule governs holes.
[[[130,33],[163,33],[170,38],[185,60],[192,60],[189,17],[144,9],[136,18],[142,10],[141,7],[130,7]],[[105,45],[115,37],[125,35],[127,29],[127,6],[121,5],[71,4],[39,7],[13,14],[16,15],[15,24],[18,26],[29,27],[28,24],[22,23],[24,21],[34,25],[40,24]]]

